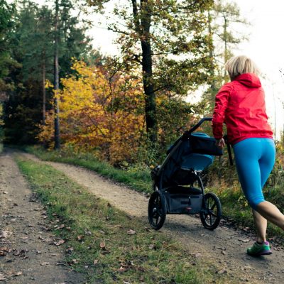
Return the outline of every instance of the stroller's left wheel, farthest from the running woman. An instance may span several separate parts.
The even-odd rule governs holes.
[[[162,228],[166,213],[165,197],[160,191],[154,191],[148,203],[148,220],[153,229]]]

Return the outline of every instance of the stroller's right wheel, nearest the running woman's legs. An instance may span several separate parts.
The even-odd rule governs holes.
[[[219,225],[222,216],[221,202],[214,193],[204,195],[204,203],[200,212],[200,219],[204,228],[214,230]]]

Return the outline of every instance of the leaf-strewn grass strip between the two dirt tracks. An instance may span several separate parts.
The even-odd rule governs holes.
[[[127,217],[58,170],[16,160],[51,222],[65,225],[55,234],[66,241],[67,263],[85,273],[87,283],[228,283],[212,264],[197,262],[169,237]]]

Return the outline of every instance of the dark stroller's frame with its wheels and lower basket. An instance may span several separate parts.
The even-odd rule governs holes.
[[[153,193],[148,203],[148,220],[153,229],[158,230],[163,226],[166,214],[200,214],[201,222],[206,229],[213,230],[219,225],[222,217],[221,203],[214,193],[205,194],[200,176],[203,170],[186,170],[187,178],[189,178],[186,187],[180,185],[167,186],[163,180],[165,165],[173,157],[182,142],[188,140],[192,132],[198,129],[204,121],[212,121],[212,118],[205,117],[192,129],[186,131],[170,148],[162,165],[155,167],[151,172]],[[220,152],[213,155],[222,155],[222,151]],[[200,189],[193,187],[194,182],[198,183]]]

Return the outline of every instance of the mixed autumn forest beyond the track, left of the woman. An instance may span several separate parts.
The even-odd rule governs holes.
[[[91,24],[75,16],[86,10],[95,18],[107,2],[1,1],[4,143],[151,165],[193,121],[212,115],[227,79],[222,66],[245,38],[232,29],[249,25],[238,6],[114,3],[119,21],[106,17],[104,26],[116,34],[120,55],[110,56],[92,48]]]

